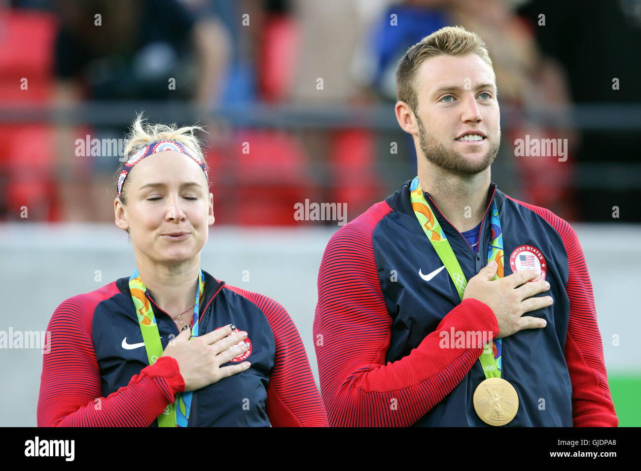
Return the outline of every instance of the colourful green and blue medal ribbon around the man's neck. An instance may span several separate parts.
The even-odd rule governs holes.
[[[461,301],[463,301],[463,292],[465,292],[465,286],[467,286],[467,279],[465,279],[461,265],[458,263],[458,260],[456,260],[447,236],[445,236],[443,229],[440,227],[440,224],[438,224],[437,218],[423,195],[418,177],[414,178],[410,185],[410,200],[412,201],[414,214],[420,222],[420,227],[423,228],[425,235],[428,236],[429,242],[431,242],[443,265],[445,265],[445,269],[447,269],[449,276],[454,282],[456,292],[458,292]],[[488,263],[492,260],[497,263],[498,267],[494,279],[499,279],[503,277],[503,233],[501,233],[499,211],[496,208],[494,199],[492,199],[492,208],[490,210],[490,224],[492,225],[492,243],[488,247],[487,260]],[[481,249],[482,247],[479,245],[479,252]],[[485,373],[486,379],[490,377],[501,377],[500,338],[490,340],[485,344],[479,361],[483,367],[483,373]]]

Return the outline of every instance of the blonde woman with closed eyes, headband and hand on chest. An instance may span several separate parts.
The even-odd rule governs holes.
[[[137,269],[54,311],[38,426],[327,426],[287,311],[201,268],[214,217],[195,129],[133,122],[114,210]]]

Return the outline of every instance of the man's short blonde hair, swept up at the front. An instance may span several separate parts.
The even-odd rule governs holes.
[[[446,26],[422,38],[408,49],[396,69],[396,96],[410,106],[414,113],[419,108],[416,74],[420,65],[436,56],[465,56],[478,54],[490,66],[496,81],[492,59],[485,42],[478,34],[467,31],[462,26]]]

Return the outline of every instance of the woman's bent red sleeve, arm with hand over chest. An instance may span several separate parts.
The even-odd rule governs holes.
[[[54,311],[42,361],[39,427],[147,427],[185,390],[174,358],[161,357],[129,384],[102,396],[92,338],[98,302],[113,295],[115,284],[62,302]],[[48,351],[48,352],[47,352]]]

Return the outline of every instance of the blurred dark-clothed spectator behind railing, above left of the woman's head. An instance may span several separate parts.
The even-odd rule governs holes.
[[[229,57],[224,26],[194,17],[176,0],[58,0],[56,103],[79,100],[191,100],[208,110],[218,98]],[[174,81],[174,83],[172,83]],[[122,117],[123,122],[131,115]],[[171,117],[165,117],[165,120]],[[63,219],[113,219],[118,156],[77,157],[76,139],[122,138],[125,127],[58,128]]]

